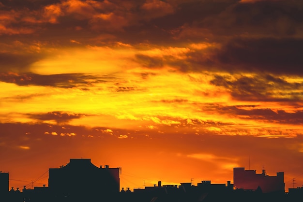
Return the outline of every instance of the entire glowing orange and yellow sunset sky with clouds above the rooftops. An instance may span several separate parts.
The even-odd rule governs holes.
[[[0,47],[10,187],[81,158],[131,190],[303,185],[302,0],[1,0]]]

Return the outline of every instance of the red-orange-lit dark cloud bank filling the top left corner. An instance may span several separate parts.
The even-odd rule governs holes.
[[[161,0],[44,0],[39,4],[36,0],[25,0],[18,5],[5,0],[1,9],[5,11],[2,14],[5,21],[0,34],[25,34],[39,30],[36,39],[40,40],[45,38],[45,34],[54,40],[52,35],[56,37],[58,33],[61,40],[68,34],[82,38],[81,30],[86,30],[85,37],[90,32],[95,32],[94,36],[100,33],[119,35],[124,28],[140,26],[143,22],[174,12],[169,3]],[[31,29],[22,32],[21,27]]]

